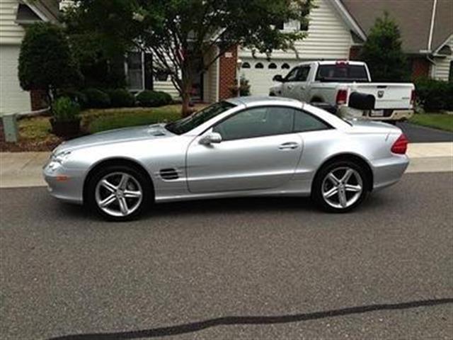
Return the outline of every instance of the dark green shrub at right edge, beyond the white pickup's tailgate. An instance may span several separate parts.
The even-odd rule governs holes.
[[[419,78],[415,80],[417,99],[425,111],[453,110],[453,82]]]

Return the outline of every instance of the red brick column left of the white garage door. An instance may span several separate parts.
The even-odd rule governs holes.
[[[231,88],[236,86],[238,48],[232,47],[219,57],[219,100],[231,98]]]

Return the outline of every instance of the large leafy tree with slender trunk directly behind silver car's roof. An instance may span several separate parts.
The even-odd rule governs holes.
[[[295,51],[306,32],[276,24],[306,23],[311,6],[312,0],[84,0],[71,9],[69,28],[84,28],[117,50],[150,52],[154,71],[171,77],[186,114],[196,74],[237,45],[268,56]]]

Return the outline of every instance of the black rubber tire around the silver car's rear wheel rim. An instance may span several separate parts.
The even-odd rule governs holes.
[[[350,168],[355,170],[357,174],[360,176],[360,179],[362,181],[362,192],[360,193],[360,196],[358,196],[357,200],[355,200],[355,202],[352,203],[352,205],[346,208],[333,207],[332,205],[328,204],[326,200],[323,198],[322,186],[324,180],[326,179],[326,176],[328,176],[328,174],[331,173],[331,171],[334,171],[335,169],[338,168]],[[337,213],[349,212],[357,208],[357,206],[360,205],[365,200],[365,198],[367,198],[367,195],[369,193],[368,188],[370,187],[369,181],[370,179],[367,174],[367,171],[363,169],[363,166],[361,166],[359,163],[350,160],[333,161],[324,165],[321,169],[319,169],[318,173],[316,174],[313,185],[311,186],[311,198],[314,200],[316,205],[318,205],[319,208],[321,208],[324,211]]]

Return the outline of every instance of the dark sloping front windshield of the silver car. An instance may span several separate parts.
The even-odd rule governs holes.
[[[234,106],[234,104],[228,103],[227,101],[214,103],[193,113],[192,115],[189,115],[186,118],[176,120],[176,122],[165,125],[165,128],[176,135],[182,135],[185,132],[189,132],[190,130],[197,128],[197,126],[202,125],[202,123],[207,122],[216,115],[224,113],[230,108],[234,108]]]

